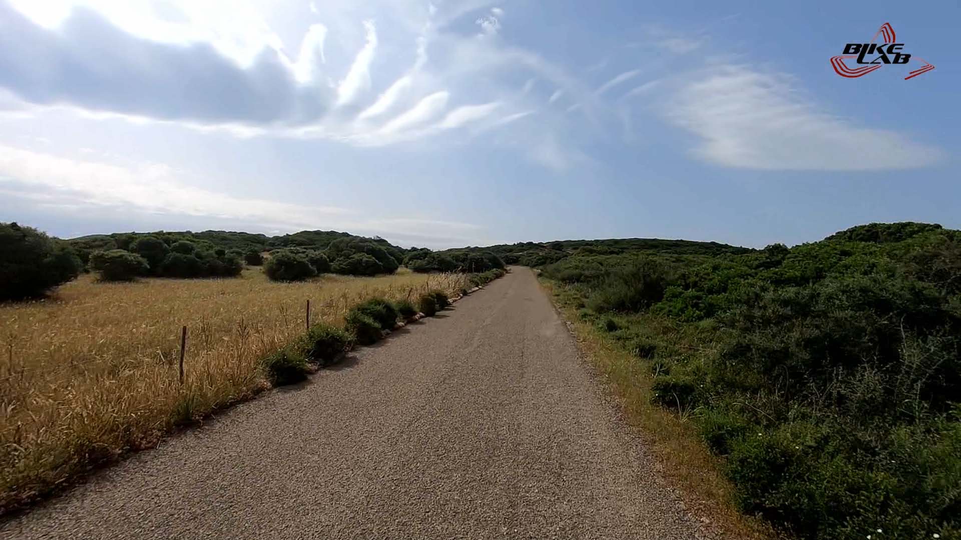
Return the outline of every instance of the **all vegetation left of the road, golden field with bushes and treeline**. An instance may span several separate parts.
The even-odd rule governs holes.
[[[78,250],[0,224],[0,514],[496,277],[413,273],[400,248],[344,233],[268,238],[283,245],[263,252],[231,244],[259,235],[208,233],[86,237]],[[344,260],[377,275],[329,273]]]

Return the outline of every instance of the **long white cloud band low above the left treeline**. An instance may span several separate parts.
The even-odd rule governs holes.
[[[184,171],[157,163],[117,164],[91,160],[89,155],[76,160],[0,145],[0,193],[45,208],[195,216],[243,222],[261,230],[333,228],[448,247],[474,240],[482,230],[470,223],[417,216],[370,219],[351,209],[234,197],[193,184]]]

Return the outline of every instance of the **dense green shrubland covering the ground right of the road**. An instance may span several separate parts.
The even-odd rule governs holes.
[[[568,246],[543,266],[629,358],[622,394],[678,421],[663,448],[699,437],[732,486],[715,493],[801,538],[961,537],[961,232],[676,247]]]

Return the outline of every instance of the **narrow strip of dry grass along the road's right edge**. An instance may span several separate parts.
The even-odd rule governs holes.
[[[619,349],[591,323],[581,321],[574,307],[558,301],[552,282],[541,281],[564,318],[573,327],[580,350],[604,376],[628,422],[644,434],[667,477],[677,483],[689,503],[710,516],[725,537],[760,540],[776,533],[761,520],[741,514],[734,504],[734,488],[722,473],[720,460],[711,455],[685,415],[655,405],[653,377],[637,360]]]

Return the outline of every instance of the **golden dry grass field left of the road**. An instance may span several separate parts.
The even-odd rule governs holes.
[[[268,282],[259,268],[224,280],[87,275],[50,299],[0,304],[0,513],[266,388],[259,358],[305,330],[308,300],[311,322],[340,325],[372,296],[415,300],[465,284],[403,270],[297,283]]]

